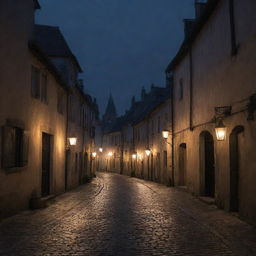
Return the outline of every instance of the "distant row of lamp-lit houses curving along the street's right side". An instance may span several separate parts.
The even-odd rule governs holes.
[[[116,118],[105,130],[105,154],[102,154],[105,168],[102,169],[168,183],[170,145],[163,140],[162,130],[169,123],[170,87],[152,85],[149,93],[143,88],[141,100],[133,97],[126,114]]]

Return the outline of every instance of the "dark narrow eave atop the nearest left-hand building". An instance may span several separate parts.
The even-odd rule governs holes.
[[[40,61],[42,62],[48,70],[51,72],[51,74],[54,76],[56,81],[65,89],[68,89],[67,84],[62,79],[61,74],[59,73],[58,69],[55,67],[55,65],[51,62],[51,60],[48,58],[48,56],[45,55],[45,53],[40,49],[40,47],[37,45],[34,41],[29,41],[28,48],[31,51],[31,53]]]

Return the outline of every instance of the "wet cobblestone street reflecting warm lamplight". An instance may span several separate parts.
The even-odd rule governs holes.
[[[256,255],[256,231],[186,192],[99,173],[0,223],[0,255]]]

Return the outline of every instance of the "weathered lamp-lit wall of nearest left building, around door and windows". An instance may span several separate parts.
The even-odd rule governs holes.
[[[14,3],[15,2],[15,3]],[[29,52],[34,25],[33,1],[2,1],[0,27],[0,126],[24,128],[29,158],[24,167],[0,169],[0,216],[28,207],[32,194],[41,195],[42,133],[52,135],[51,193],[64,191],[65,115],[57,113],[57,92],[63,88]],[[48,78],[48,103],[31,96],[31,65]],[[1,142],[3,143],[1,131]],[[2,145],[1,143],[1,145]],[[3,156],[1,147],[1,159]]]

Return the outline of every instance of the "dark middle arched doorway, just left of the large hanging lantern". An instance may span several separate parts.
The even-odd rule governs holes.
[[[213,136],[204,131],[200,135],[201,187],[204,196],[215,197],[215,158]]]

